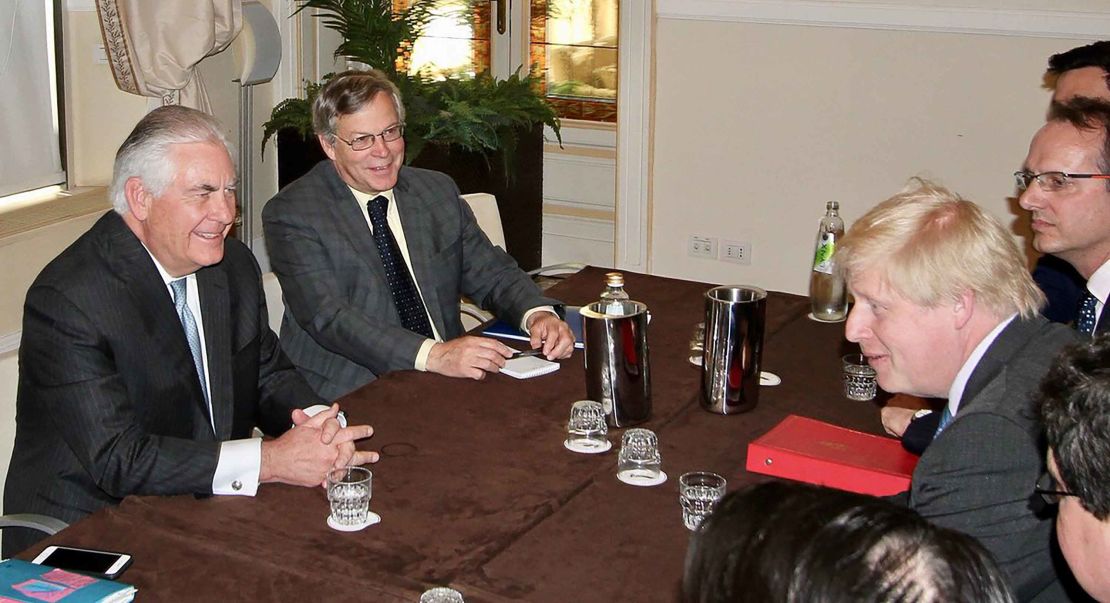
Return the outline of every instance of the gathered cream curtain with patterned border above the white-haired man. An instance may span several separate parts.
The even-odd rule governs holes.
[[[115,86],[211,113],[196,63],[243,27],[241,0],[97,0]]]

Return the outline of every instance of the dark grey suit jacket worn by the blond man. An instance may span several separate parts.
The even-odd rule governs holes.
[[[1050,553],[1053,517],[1031,507],[1033,484],[1045,471],[1033,396],[1052,359],[1077,338],[1041,316],[1016,319],[1002,330],[901,496],[934,523],[977,537],[1009,574],[1020,601],[1067,600]]]

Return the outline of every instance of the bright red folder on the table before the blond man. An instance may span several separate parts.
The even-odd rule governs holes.
[[[748,444],[747,470],[885,496],[909,490],[917,459],[892,438],[791,414]]]

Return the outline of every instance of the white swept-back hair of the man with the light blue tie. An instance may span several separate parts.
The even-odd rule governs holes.
[[[176,104],[147,113],[115,152],[112,183],[108,189],[115,212],[123,215],[130,211],[124,185],[131,178],[142,180],[143,188],[154,197],[165,191],[179,168],[170,160],[174,144],[219,142],[234,163],[235,153],[220,128],[212,115]]]

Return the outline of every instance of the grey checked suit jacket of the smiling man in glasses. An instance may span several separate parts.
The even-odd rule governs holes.
[[[394,193],[412,271],[442,338],[463,334],[461,294],[512,324],[558,303],[490,243],[451,178],[405,167]],[[414,366],[424,338],[401,325],[373,235],[331,161],[282,189],[262,221],[285,299],[282,348],[313,389],[333,399]]]

